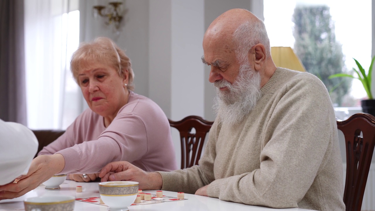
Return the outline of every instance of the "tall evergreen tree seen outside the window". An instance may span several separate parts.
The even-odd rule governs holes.
[[[328,6],[300,6],[294,9],[294,51],[307,72],[319,76],[330,91],[332,102],[342,105],[351,87],[351,78],[334,78],[332,74],[344,73],[344,54],[336,41],[335,24]],[[338,84],[340,84],[338,86]]]

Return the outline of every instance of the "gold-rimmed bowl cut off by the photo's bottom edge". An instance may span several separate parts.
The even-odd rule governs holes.
[[[73,211],[73,196],[38,196],[24,200],[26,211]]]

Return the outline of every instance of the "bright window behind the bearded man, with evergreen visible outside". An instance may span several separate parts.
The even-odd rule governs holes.
[[[301,11],[301,8],[318,9],[312,15],[314,11]],[[298,9],[300,10],[300,16],[293,19],[293,15],[295,12],[297,14]],[[319,10],[321,13],[317,12]],[[348,89],[345,90],[343,88],[345,84],[341,84],[341,81],[333,83],[333,79],[328,79],[328,76],[333,74],[330,71],[334,68],[338,68],[337,71],[350,72],[354,67],[357,67],[353,58],[357,59],[365,70],[368,70],[371,62],[372,47],[371,12],[371,0],[363,0],[355,3],[348,0],[326,0],[324,2],[316,0],[264,1],[264,23],[270,37],[271,46],[292,47],[305,65],[306,71],[321,77],[321,80],[330,91],[331,99],[336,107],[360,107],[360,100],[365,99],[367,96],[359,80],[347,81]],[[318,14],[322,15],[322,17],[319,17]],[[332,17],[332,21],[329,20],[330,16]],[[305,22],[299,23],[302,18],[305,18]],[[315,20],[311,20],[311,18],[315,18]],[[307,27],[306,25],[309,23],[314,25],[312,26],[313,28],[322,30],[318,32],[320,36],[315,36],[317,41],[308,43],[297,38],[296,42],[296,36],[305,36],[299,33],[296,25],[301,24],[302,27]],[[323,30],[319,27],[326,27],[326,29]],[[328,36],[333,39],[327,39]],[[327,40],[329,42],[323,43]],[[326,50],[324,48],[319,49],[324,44],[329,45]],[[312,53],[309,54],[310,56],[301,58],[301,54],[298,52],[299,45],[303,45],[304,51],[308,51],[306,49],[311,48]],[[329,50],[332,50],[332,54],[327,53]],[[342,52],[342,67],[339,67],[340,55],[338,54],[340,52]],[[334,56],[336,56],[336,60]],[[324,65],[314,66],[308,61],[305,64],[304,61],[309,59],[315,60],[316,63],[323,63]],[[343,78],[336,79],[342,80]],[[334,87],[336,85],[337,89]],[[357,110],[360,110],[360,108],[357,108]]]

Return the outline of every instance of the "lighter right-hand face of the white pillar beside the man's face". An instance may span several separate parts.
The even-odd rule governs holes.
[[[174,120],[204,115],[204,66],[200,60],[203,19],[202,0],[172,0],[171,118]]]

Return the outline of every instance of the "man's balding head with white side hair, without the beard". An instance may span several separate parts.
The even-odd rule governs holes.
[[[276,70],[266,26],[246,9],[231,9],[217,17],[204,34],[203,51],[202,61],[211,65],[211,82],[225,76],[228,69],[227,80],[232,83],[239,67],[250,65],[260,72],[263,86]]]

